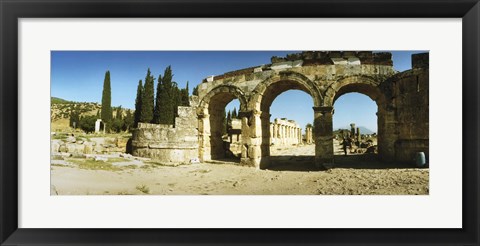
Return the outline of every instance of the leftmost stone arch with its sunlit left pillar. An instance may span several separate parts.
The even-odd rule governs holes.
[[[247,97],[238,87],[220,85],[210,90],[197,108],[199,131],[199,155],[202,161],[222,159],[227,147],[222,139],[222,124],[225,106],[232,100],[240,101],[239,112],[245,111]],[[243,124],[243,122],[242,122]]]

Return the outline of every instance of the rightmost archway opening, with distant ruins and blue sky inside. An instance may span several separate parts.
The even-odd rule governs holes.
[[[377,97],[368,86],[346,86],[334,100],[333,144],[337,167],[366,168],[378,164]]]

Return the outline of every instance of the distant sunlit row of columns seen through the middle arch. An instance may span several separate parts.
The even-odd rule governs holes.
[[[273,145],[296,145],[302,143],[302,128],[294,120],[275,119],[270,123],[270,143]]]

